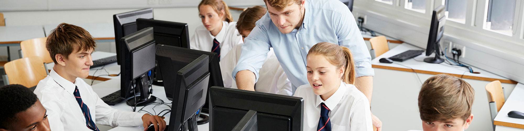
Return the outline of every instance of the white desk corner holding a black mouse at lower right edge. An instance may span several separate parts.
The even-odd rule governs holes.
[[[524,113],[524,84],[518,83],[506,100],[506,103],[500,108],[495,117],[495,125],[515,127],[524,129],[524,119],[508,117],[508,112],[518,111]]]

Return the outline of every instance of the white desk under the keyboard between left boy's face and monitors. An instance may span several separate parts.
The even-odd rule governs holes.
[[[106,57],[116,56],[116,53],[110,53],[110,52],[103,52],[103,51],[95,51],[92,54],[93,60],[98,60]],[[54,66],[54,63],[48,63],[47,68],[51,69]],[[102,69],[103,68],[103,69]],[[107,72],[106,72],[107,71]],[[100,81],[107,81],[109,79],[117,79],[120,80],[120,75],[116,77],[108,76],[108,74],[118,74],[120,73],[120,65],[118,65],[116,62],[111,64],[106,64],[103,67],[96,67],[89,69],[89,77],[86,79],[93,79],[93,77],[98,77],[95,80]],[[111,92],[112,93],[112,92]],[[105,96],[105,95],[104,95]]]

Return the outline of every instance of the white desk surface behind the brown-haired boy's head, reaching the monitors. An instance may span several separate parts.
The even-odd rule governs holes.
[[[57,28],[58,24],[43,25],[43,30],[46,32],[46,36],[51,33],[51,30]],[[76,24],[84,28],[97,40],[114,40],[115,39],[115,28],[112,23],[97,23],[97,24]]]

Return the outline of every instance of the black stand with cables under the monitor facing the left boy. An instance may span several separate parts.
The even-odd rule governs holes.
[[[153,103],[157,100],[157,97],[151,95],[153,92],[152,90],[149,91],[149,87],[151,87],[151,81],[149,80],[149,76],[147,74],[142,75],[141,77],[138,77],[135,79],[135,88],[133,90],[137,89],[140,90],[140,96],[134,96],[135,98],[131,98],[127,101],[127,105],[129,106],[144,106],[150,103]],[[136,91],[135,91],[136,92]]]

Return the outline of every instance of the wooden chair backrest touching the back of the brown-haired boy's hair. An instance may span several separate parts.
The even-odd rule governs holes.
[[[24,57],[40,57],[43,63],[51,63],[53,59],[46,48],[47,37],[24,40],[20,42],[20,48]]]

